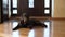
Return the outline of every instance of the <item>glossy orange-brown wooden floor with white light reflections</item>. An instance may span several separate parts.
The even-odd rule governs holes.
[[[47,28],[34,27],[21,28],[18,30],[12,30],[18,22],[9,21],[0,24],[0,37],[65,37],[65,20],[51,20],[51,21],[41,21]]]

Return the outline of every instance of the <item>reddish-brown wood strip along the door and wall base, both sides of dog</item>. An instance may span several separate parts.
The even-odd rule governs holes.
[[[21,17],[10,17],[10,18],[21,20]],[[65,17],[49,17],[49,16],[30,16],[30,18],[36,18],[36,20],[65,20]]]

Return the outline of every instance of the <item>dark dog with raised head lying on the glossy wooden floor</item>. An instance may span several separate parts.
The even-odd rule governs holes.
[[[30,20],[29,14],[27,13],[23,13],[22,18],[21,18],[21,23],[18,23],[18,25],[15,28],[13,28],[13,30],[16,30],[18,28],[27,28],[27,27],[32,28],[35,26],[47,27],[47,25],[41,23],[39,20],[34,20],[34,18]]]

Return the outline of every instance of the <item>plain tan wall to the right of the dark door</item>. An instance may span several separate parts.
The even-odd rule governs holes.
[[[65,0],[54,0],[53,17],[65,17]]]

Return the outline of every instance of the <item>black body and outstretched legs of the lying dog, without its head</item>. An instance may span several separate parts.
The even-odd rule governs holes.
[[[15,28],[13,28],[13,30],[16,30],[20,28],[30,28],[31,29],[32,27],[36,27],[36,26],[47,27],[46,24],[41,23],[38,20],[29,20],[26,22],[24,22],[24,20],[22,20],[21,23],[18,23],[18,25]]]

